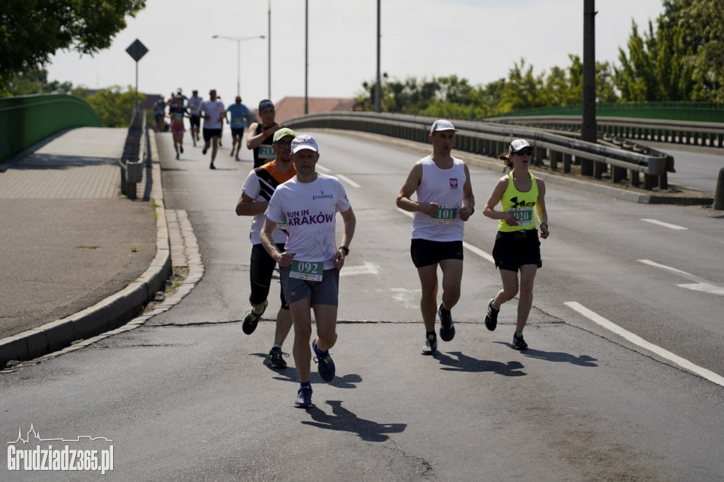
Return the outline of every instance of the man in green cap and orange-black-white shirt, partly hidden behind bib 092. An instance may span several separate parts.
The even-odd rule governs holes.
[[[237,97],[238,98],[238,97]],[[253,169],[244,182],[241,195],[236,205],[237,216],[254,216],[251,221],[251,261],[249,262],[249,284],[251,295],[249,303],[251,310],[246,314],[242,329],[245,334],[252,334],[256,325],[264,315],[269,302],[269,287],[271,276],[274,274],[274,267],[277,262],[266,253],[264,246],[259,240],[261,227],[264,225],[264,211],[269,206],[269,199],[274,194],[277,186],[282,184],[296,173],[292,158],[290,157],[292,140],[295,133],[291,129],[279,129],[274,133],[274,153],[277,157],[274,161],[264,166]],[[279,226],[277,226],[279,228]],[[284,251],[284,244],[287,242],[287,232],[284,229],[274,229],[272,234],[274,244],[280,252]],[[292,328],[292,316],[289,312],[289,305],[284,297],[284,290],[279,287],[279,295],[282,300],[282,308],[277,313],[277,331],[274,334],[274,345],[269,351],[269,363],[273,368],[287,368],[282,352],[282,344]],[[287,355],[288,356],[288,355]]]

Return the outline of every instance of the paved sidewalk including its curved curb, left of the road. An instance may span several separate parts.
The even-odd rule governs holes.
[[[158,159],[123,198],[126,134],[70,130],[0,165],[0,368],[125,323],[163,286]]]

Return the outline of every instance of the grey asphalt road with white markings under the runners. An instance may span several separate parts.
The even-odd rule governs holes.
[[[203,278],[145,326],[2,374],[7,441],[31,423],[46,438],[106,437],[114,470],[104,477],[117,480],[724,478],[720,214],[549,184],[551,236],[531,348],[519,352],[512,302],[496,331],[483,324],[500,276],[487,258],[496,224],[478,211],[466,226],[457,334],[424,357],[411,221],[395,208],[423,154],[314,135],[320,170],[340,175],[358,219],[340,278],[337,378],[323,384],[313,373],[315,407],[292,407],[291,357],[285,371],[264,364],[273,321],[251,337],[241,331],[250,220],[234,206],[251,156],[233,161],[227,140],[211,171],[208,153],[187,140],[176,161],[170,136],[157,135],[166,207],[188,216]],[[478,206],[500,175],[471,168]],[[94,478],[6,472],[3,464],[4,480]]]

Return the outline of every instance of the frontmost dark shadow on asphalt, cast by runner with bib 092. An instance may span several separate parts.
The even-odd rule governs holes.
[[[312,416],[313,422],[303,421],[305,425],[311,425],[328,430],[352,432],[365,441],[386,441],[390,438],[387,434],[400,434],[407,427],[406,423],[376,423],[372,420],[358,418],[357,415],[346,408],[342,408],[341,400],[327,400],[327,405],[332,407],[332,414],[327,415],[316,405],[307,409]]]

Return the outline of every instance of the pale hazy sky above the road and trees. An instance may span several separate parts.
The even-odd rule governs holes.
[[[352,97],[376,74],[376,0],[308,0],[308,94]],[[539,73],[567,67],[583,48],[583,0],[382,0],[382,71],[392,78],[456,74],[472,85],[506,77],[525,59]],[[305,91],[302,0],[147,0],[111,48],[94,57],[59,52],[51,80],[88,88],[135,85],[125,48],[136,38],[149,52],[139,90],[167,96],[216,88],[230,103],[237,90],[237,42],[213,35],[267,35],[271,6],[271,99]],[[640,27],[663,12],[662,0],[598,0],[597,60],[616,62],[631,20]],[[640,30],[641,31],[641,30]],[[241,96],[249,106],[268,94],[269,39],[239,43]]]

